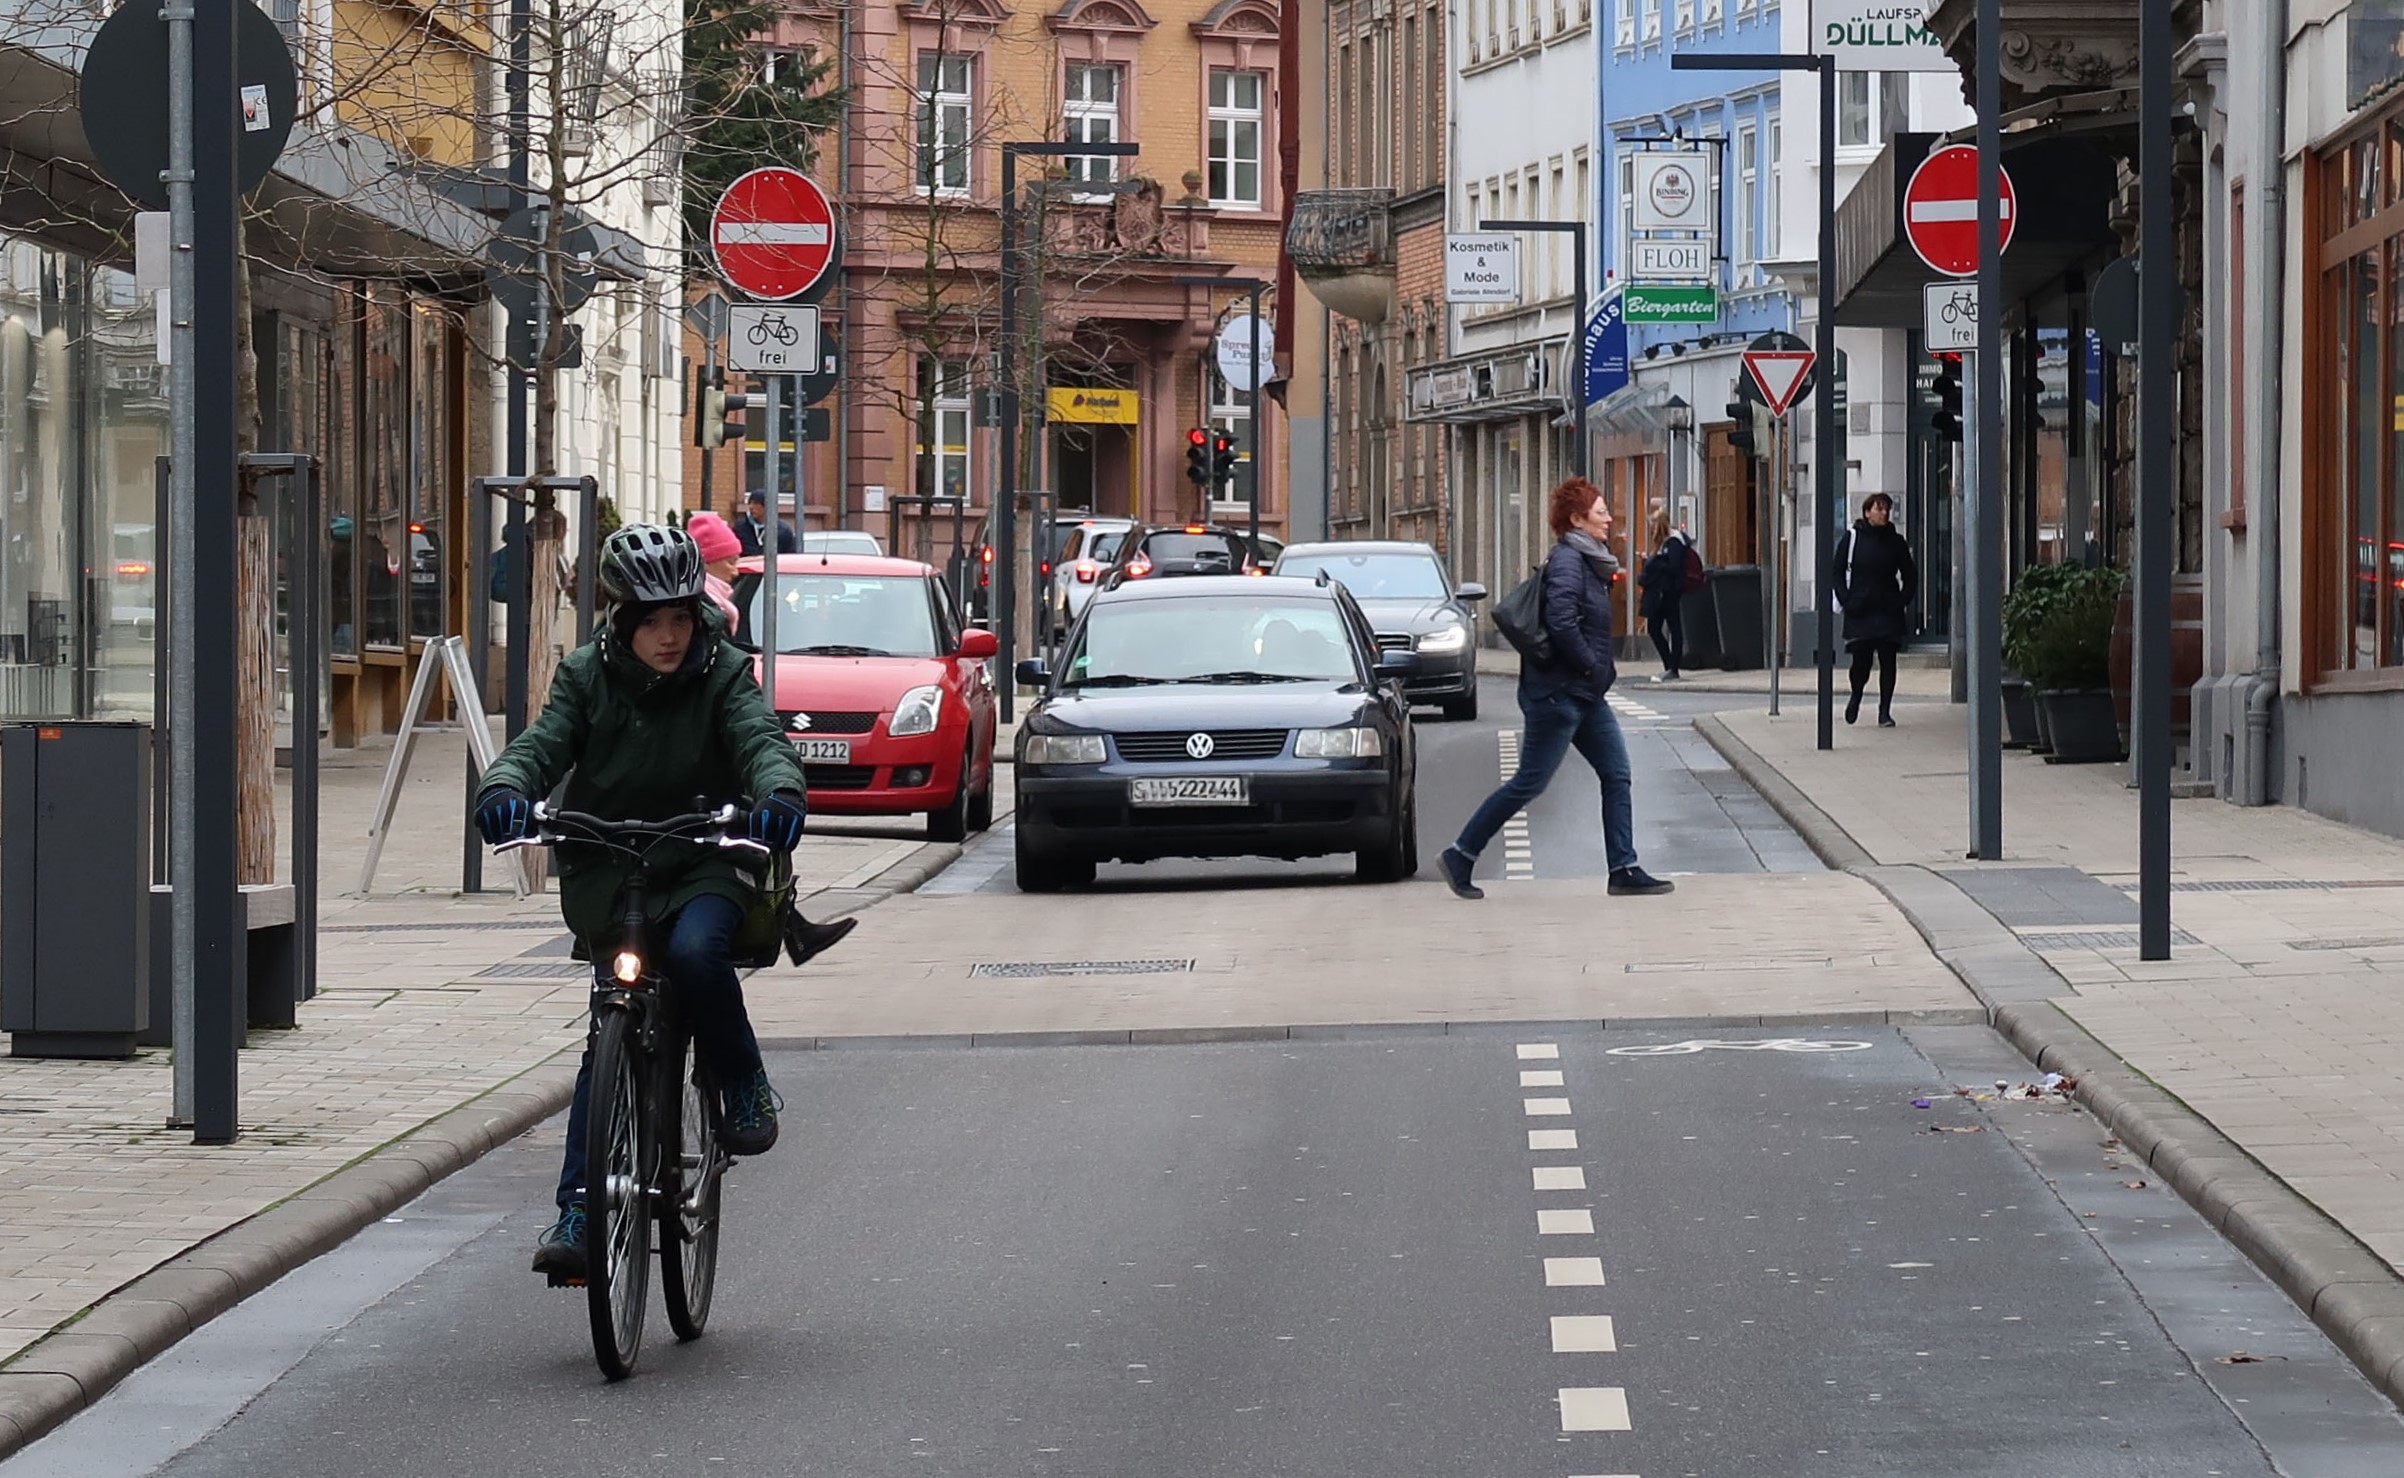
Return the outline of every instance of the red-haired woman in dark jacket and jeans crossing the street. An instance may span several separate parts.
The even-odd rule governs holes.
[[[1560,759],[1577,752],[1594,767],[1603,786],[1603,856],[1611,863],[1613,894],[1666,894],[1661,882],[1637,865],[1635,793],[1628,769],[1628,740],[1603,695],[1618,678],[1611,658],[1611,582],[1620,562],[1611,555],[1611,505],[1587,478],[1553,488],[1548,509],[1553,553],[1543,560],[1543,630],[1553,637],[1553,661],[1519,661],[1519,711],[1527,716],[1527,740],[1519,745],[1519,774],[1486,798],[1459,841],[1438,858],[1445,884],[1462,899],[1483,899],[1469,882],[1478,853],[1502,822],[1519,815],[1553,783]]]

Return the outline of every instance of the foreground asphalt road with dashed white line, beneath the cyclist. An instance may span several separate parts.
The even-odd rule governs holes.
[[[553,1122],[0,1478],[2404,1471],[2392,1408],[2094,1120],[1950,1093],[2015,1072],[1991,1033],[1813,1038],[1861,1048],[774,1055],[716,1322],[654,1312],[632,1382],[524,1269]],[[1656,1050],[1692,1041],[1753,1045]]]

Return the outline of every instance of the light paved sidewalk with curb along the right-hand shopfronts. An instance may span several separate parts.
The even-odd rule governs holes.
[[[1887,887],[2031,1055],[2142,1074],[2120,1074],[2120,1118],[2094,1103],[2128,1151],[2404,1396],[2404,844],[2173,800],[2173,949],[2140,961],[2128,767],[2005,752],[2007,860],[1966,863],[1966,709],[1897,719],[1839,726],[1829,752],[1808,709],[1700,728],[1822,858]]]

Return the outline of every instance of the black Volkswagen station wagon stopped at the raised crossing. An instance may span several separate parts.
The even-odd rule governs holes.
[[[1353,853],[1368,882],[1418,872],[1416,750],[1402,678],[1332,579],[1197,574],[1096,591],[1017,747],[1019,887],[1103,860]]]

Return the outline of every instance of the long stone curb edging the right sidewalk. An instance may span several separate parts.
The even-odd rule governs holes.
[[[2029,1062],[2077,1079],[2079,1103],[2125,1154],[2195,1206],[2301,1307],[2390,1401],[2404,1406],[2404,1279],[2161,1084],[2130,1067],[2055,1000],[2077,995],[2019,937],[1928,868],[1878,865],[1793,781],[1719,719],[1695,719],[1728,767],[1769,800],[1829,868],[1887,894],[1930,952]]]

